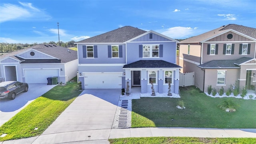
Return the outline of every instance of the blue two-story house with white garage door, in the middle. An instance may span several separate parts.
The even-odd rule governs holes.
[[[178,94],[177,40],[132,26],[124,26],[80,42],[78,72],[83,89],[140,87],[141,93]]]

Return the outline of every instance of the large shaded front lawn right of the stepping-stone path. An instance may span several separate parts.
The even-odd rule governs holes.
[[[132,100],[132,128],[256,128],[256,100],[211,98],[194,86],[180,88],[181,98],[141,98]],[[240,107],[225,112],[218,105],[233,100]],[[186,109],[176,108],[183,100]]]

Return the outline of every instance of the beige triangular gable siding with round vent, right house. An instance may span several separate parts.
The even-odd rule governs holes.
[[[227,36],[228,34],[232,34],[233,37],[231,39],[228,39]],[[249,38],[246,38],[244,36],[241,36],[239,34],[236,34],[234,32],[227,32],[225,34],[221,34],[220,36],[216,36],[210,40],[207,40],[207,42],[219,42],[219,41],[230,41],[230,42],[234,42],[234,41],[252,41]]]

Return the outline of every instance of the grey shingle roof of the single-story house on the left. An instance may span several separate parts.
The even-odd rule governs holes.
[[[29,50],[31,48],[34,49],[34,50],[37,50],[39,52],[43,52],[45,54],[53,56],[57,59],[60,59],[60,61],[58,61],[58,62],[61,62],[61,63],[70,62],[70,61],[76,60],[78,58],[77,57],[77,51],[75,51],[75,50],[71,50],[71,49],[68,49],[68,48],[63,48],[63,47],[57,46],[57,45],[55,45],[55,46],[50,45],[49,46],[49,45],[44,45],[44,44],[38,44],[38,45],[32,46],[30,48],[24,48],[22,50],[17,50],[17,51],[14,51],[14,52],[10,52],[8,54],[1,55],[0,59],[5,58],[7,56],[10,56],[10,57],[12,57],[16,60],[24,60],[22,58],[19,58],[17,55],[26,51],[26,50]],[[31,60],[28,60],[28,61],[31,61]],[[36,62],[36,59],[34,59],[32,61],[33,61],[33,63],[38,63],[38,62]],[[54,62],[57,62],[57,61],[54,61]]]

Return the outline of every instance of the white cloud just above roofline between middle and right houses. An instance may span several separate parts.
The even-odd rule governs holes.
[[[164,32],[161,32],[161,34],[164,34],[170,38],[188,38],[190,36],[195,36],[194,32],[198,27],[190,28],[190,27],[182,27],[182,26],[176,26],[172,28],[165,29]]]

